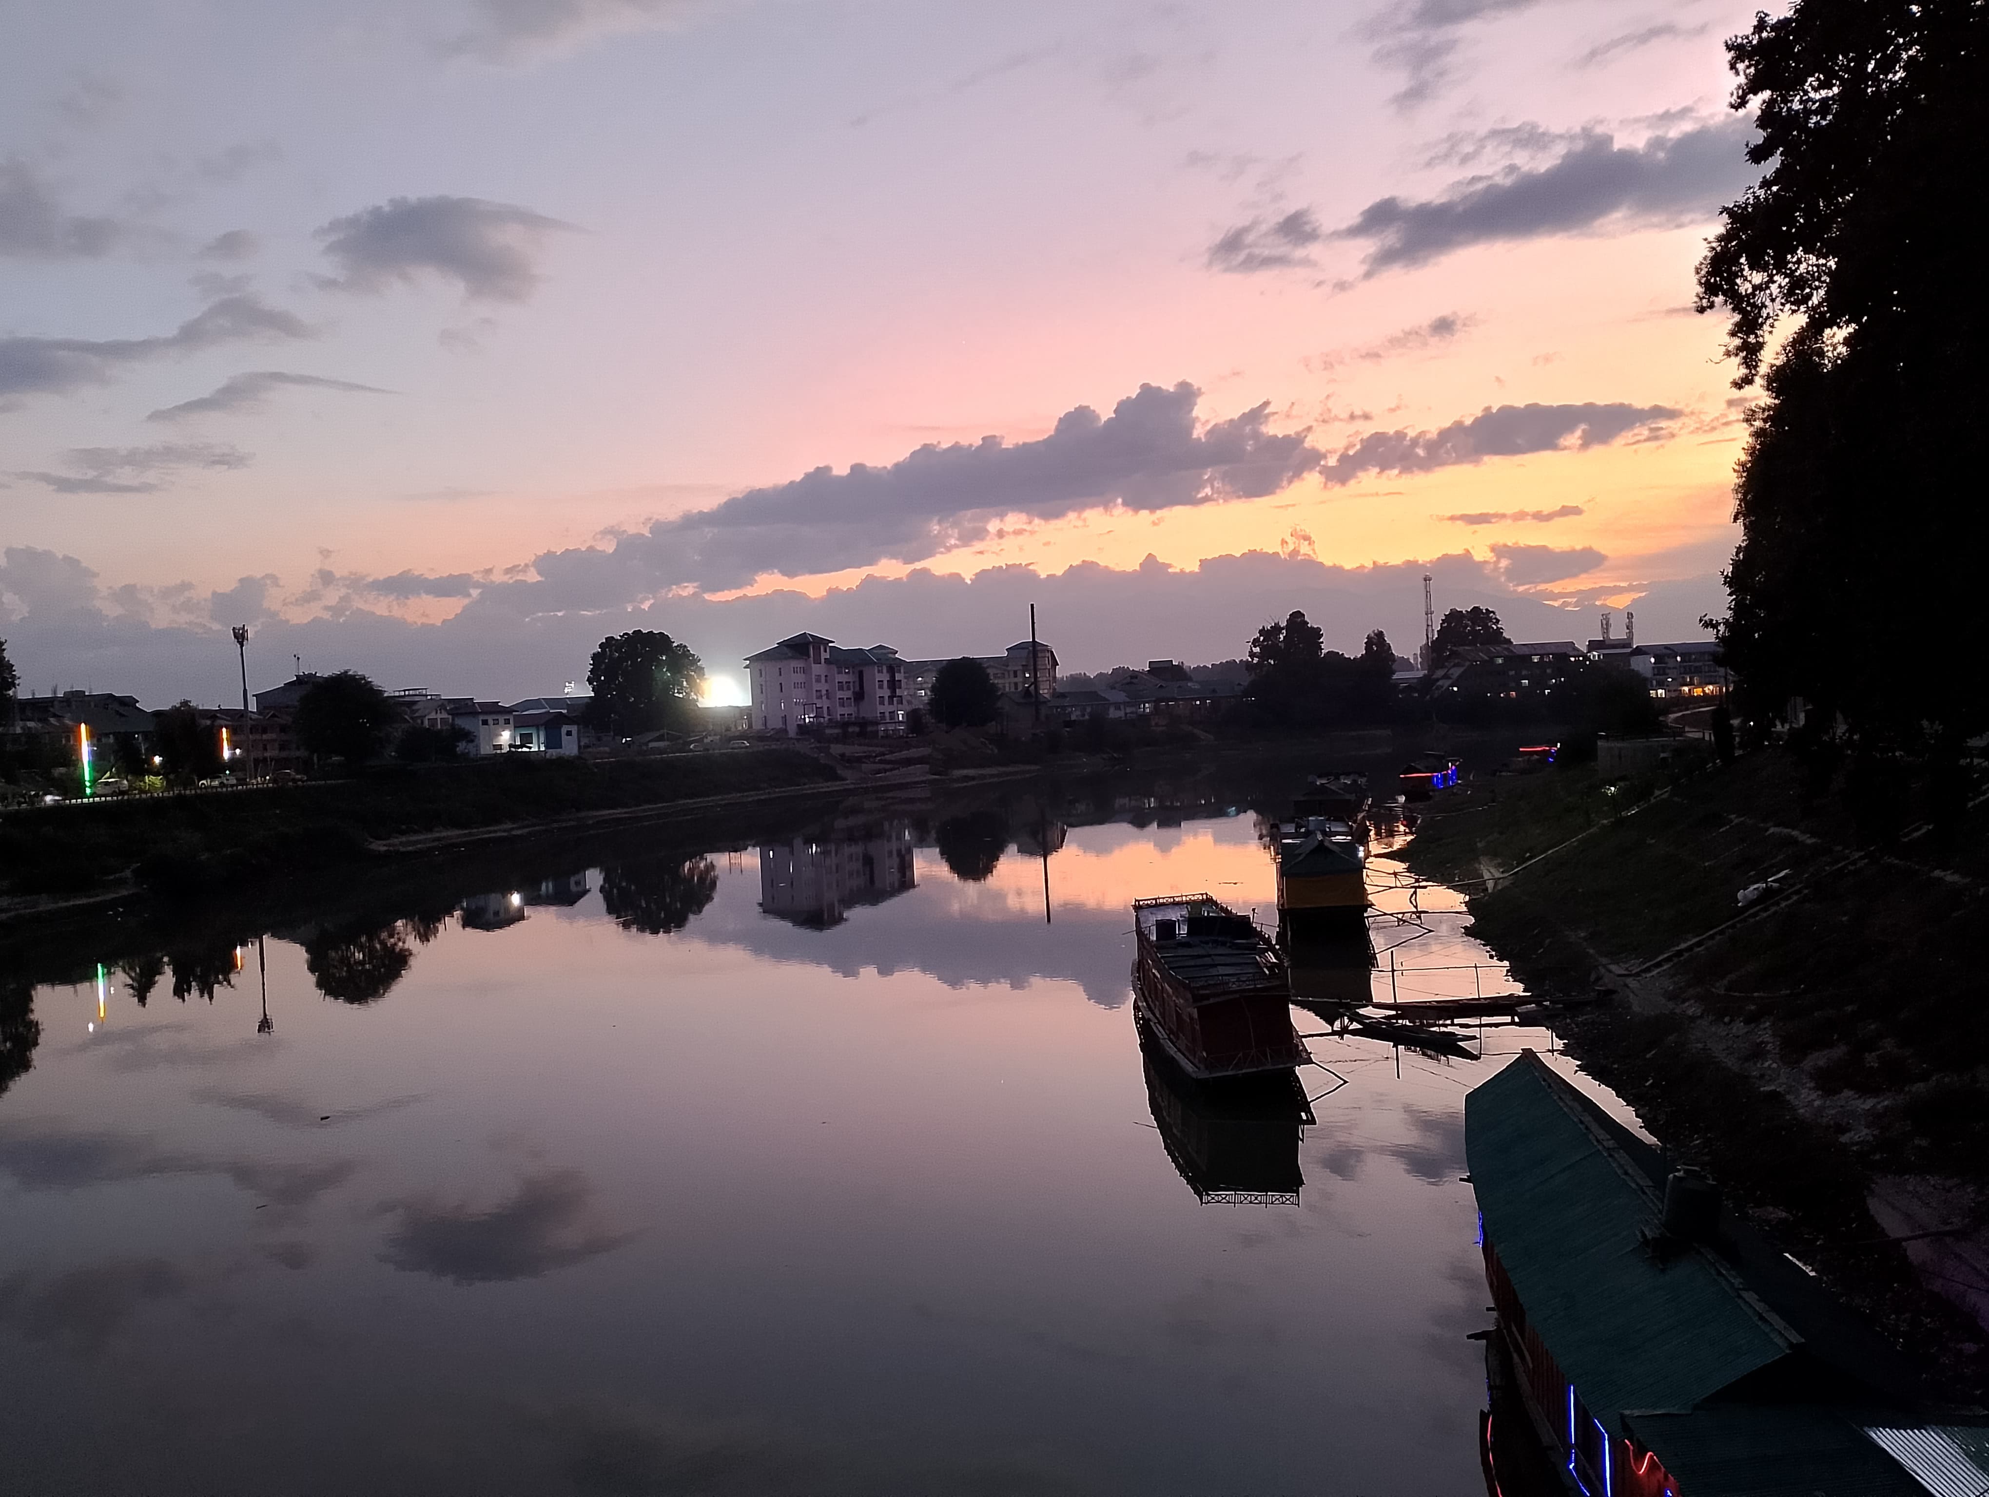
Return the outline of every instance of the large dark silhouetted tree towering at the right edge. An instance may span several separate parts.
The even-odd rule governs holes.
[[[1699,266],[1764,390],[1726,658],[1752,716],[1804,698],[1862,748],[1951,744],[1989,726],[1989,662],[1921,638],[1983,541],[1989,6],[1798,0],[1728,56],[1766,173]]]

